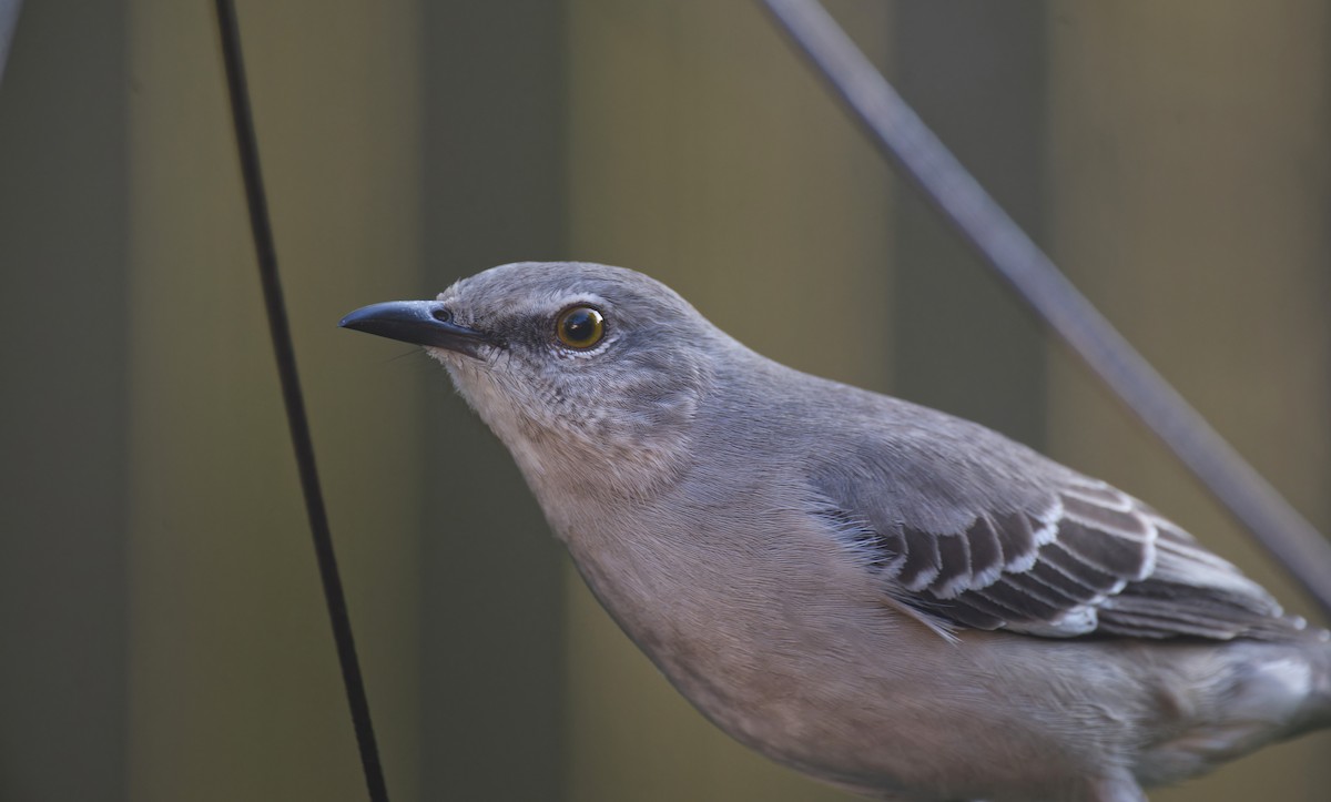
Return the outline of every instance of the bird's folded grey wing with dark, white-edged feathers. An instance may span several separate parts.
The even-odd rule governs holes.
[[[896,426],[816,472],[816,514],[897,601],[974,629],[1229,639],[1300,626],[1145,504],[981,426]]]

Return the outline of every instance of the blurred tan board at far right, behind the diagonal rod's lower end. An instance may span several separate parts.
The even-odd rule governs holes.
[[[1331,9],[1226,1],[1047,15],[1055,261],[1327,532]],[[1054,352],[1054,456],[1159,506],[1298,606],[1186,470]],[[1328,751],[1331,735],[1303,738],[1153,799],[1320,801]]]

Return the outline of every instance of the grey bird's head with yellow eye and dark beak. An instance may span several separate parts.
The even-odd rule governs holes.
[[[630,493],[687,462],[728,340],[663,284],[587,262],[502,265],[339,325],[422,345],[534,484],[583,477]]]

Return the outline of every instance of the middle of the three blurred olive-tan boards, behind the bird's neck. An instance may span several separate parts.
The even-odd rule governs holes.
[[[885,60],[881,4],[833,4]],[[572,0],[570,252],[660,278],[773,358],[884,389],[889,173],[757,4]],[[844,794],[705,722],[568,572],[566,798]]]

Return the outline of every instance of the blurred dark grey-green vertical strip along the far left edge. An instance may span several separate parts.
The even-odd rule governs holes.
[[[125,19],[29,3],[0,84],[7,801],[126,798]]]

